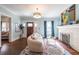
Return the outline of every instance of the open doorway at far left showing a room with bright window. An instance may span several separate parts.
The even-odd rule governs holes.
[[[9,43],[11,39],[11,18],[8,16],[1,16],[1,45]]]

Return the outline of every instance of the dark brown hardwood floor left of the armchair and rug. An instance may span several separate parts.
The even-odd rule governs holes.
[[[11,43],[3,44],[1,55],[18,55],[26,47],[26,39],[19,39]]]

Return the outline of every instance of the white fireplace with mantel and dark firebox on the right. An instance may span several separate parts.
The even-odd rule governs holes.
[[[58,26],[58,38],[79,51],[79,24]],[[62,37],[64,36],[64,37]]]

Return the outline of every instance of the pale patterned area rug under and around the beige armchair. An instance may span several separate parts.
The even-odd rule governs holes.
[[[44,50],[42,53],[31,52],[29,51],[28,46],[20,53],[20,55],[68,55],[68,54],[70,54],[68,51],[62,52],[59,47],[51,44],[48,44],[47,49]]]

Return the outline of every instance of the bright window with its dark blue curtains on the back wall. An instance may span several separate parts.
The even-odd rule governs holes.
[[[44,37],[51,38],[54,36],[54,22],[44,21]]]

